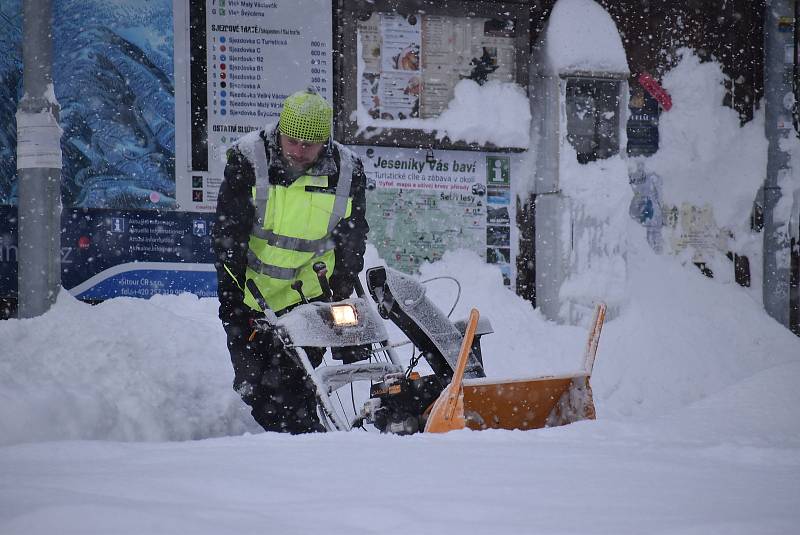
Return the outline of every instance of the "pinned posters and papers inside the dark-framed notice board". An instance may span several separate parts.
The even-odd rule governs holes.
[[[462,79],[513,82],[515,22],[373,13],[358,23],[359,127],[438,117]],[[362,118],[363,124],[362,124]]]

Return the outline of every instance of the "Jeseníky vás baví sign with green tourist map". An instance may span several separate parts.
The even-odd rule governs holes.
[[[394,268],[414,273],[445,251],[468,249],[513,280],[511,176],[501,153],[351,147],[367,175],[369,240]]]

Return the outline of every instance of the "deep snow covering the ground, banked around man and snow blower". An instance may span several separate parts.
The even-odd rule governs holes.
[[[0,324],[0,533],[795,533],[800,340],[638,241],[600,341],[598,419],[528,432],[259,433],[213,299],[62,294]],[[491,376],[580,365],[586,333],[477,256],[422,275],[443,273],[464,287],[456,316],[494,319]],[[447,309],[455,288],[429,295]]]

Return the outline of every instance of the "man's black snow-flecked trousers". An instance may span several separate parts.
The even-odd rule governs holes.
[[[247,330],[226,328],[235,372],[233,387],[252,408],[255,421],[265,430],[279,433],[325,431],[317,416],[313,383],[294,350],[284,347],[271,333],[259,332],[248,341]],[[320,364],[322,354],[308,352],[313,366]]]

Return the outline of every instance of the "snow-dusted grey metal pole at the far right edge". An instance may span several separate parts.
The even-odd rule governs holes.
[[[764,20],[764,95],[766,135],[769,142],[764,180],[764,308],[789,326],[789,228],[775,212],[783,192],[792,184],[789,154],[781,148],[794,136],[792,126],[792,74],[794,69],[794,1],[767,0]],[[784,145],[786,146],[786,145]],[[787,214],[788,215],[788,214]]]

